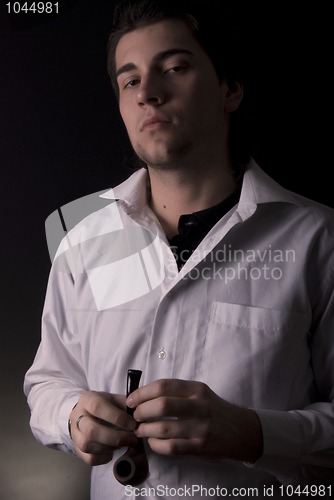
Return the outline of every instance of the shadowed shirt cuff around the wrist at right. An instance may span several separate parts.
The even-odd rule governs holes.
[[[301,427],[287,411],[254,410],[261,422],[263,454],[248,467],[263,469],[274,476],[292,474],[299,464],[302,450]]]

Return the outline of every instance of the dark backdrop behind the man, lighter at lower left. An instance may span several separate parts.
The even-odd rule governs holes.
[[[50,267],[45,219],[129,175],[122,167],[129,146],[105,63],[115,2],[59,1],[58,15],[11,17],[6,3],[0,4],[0,500],[86,500],[89,467],[34,440],[22,383],[40,339]],[[288,189],[334,207],[326,149],[329,9],[266,4],[238,3],[252,57],[254,157]]]

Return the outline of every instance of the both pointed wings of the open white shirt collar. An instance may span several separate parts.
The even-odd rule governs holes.
[[[149,178],[145,168],[137,170],[122,184],[100,195],[101,198],[122,200],[122,209],[128,214],[147,205],[148,196]],[[239,215],[245,220],[255,212],[257,205],[274,202],[301,205],[298,196],[280,186],[251,159],[242,183],[237,209]]]

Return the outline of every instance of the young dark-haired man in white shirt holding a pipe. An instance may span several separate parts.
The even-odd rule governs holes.
[[[210,53],[193,3],[116,13],[110,73],[146,168],[58,250],[26,377],[31,426],[99,466],[93,499],[282,497],[281,484],[322,494],[334,466],[333,211],[253,160],[239,182],[243,85],[229,56],[220,67]],[[128,368],[143,383],[125,403]],[[135,490],[112,470],[138,438],[150,476]]]

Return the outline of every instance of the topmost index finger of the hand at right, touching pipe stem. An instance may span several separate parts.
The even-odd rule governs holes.
[[[201,382],[178,379],[161,379],[140,387],[126,400],[127,406],[136,408],[138,405],[161,396],[190,398],[199,390]]]

